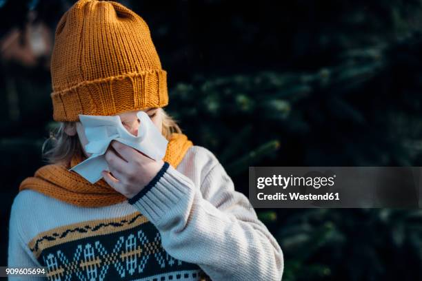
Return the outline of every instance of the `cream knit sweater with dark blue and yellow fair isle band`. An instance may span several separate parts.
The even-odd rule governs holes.
[[[279,281],[283,273],[279,244],[200,146],[116,205],[77,207],[21,191],[9,233],[8,267],[46,267],[54,281],[186,281],[203,273],[213,281]]]

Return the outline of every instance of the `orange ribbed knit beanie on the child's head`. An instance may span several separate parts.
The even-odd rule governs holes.
[[[168,104],[167,77],[139,15],[120,3],[80,0],[57,25],[53,118],[114,115]]]

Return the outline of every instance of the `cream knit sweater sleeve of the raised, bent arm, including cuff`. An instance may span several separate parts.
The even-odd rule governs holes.
[[[130,203],[157,227],[170,256],[198,264],[212,280],[281,280],[277,240],[220,163],[201,187],[165,163]]]

